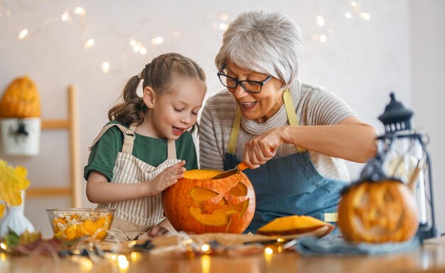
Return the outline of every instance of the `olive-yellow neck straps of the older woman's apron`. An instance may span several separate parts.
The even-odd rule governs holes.
[[[283,92],[283,100],[284,107],[286,107],[287,119],[289,119],[290,125],[298,125],[298,120],[296,119],[296,112],[294,107],[294,102],[292,102],[292,96],[289,89],[284,90]],[[238,133],[240,132],[240,124],[241,124],[241,111],[240,108],[237,107],[237,113],[235,114],[235,119],[232,124],[232,131],[230,132],[229,144],[227,146],[228,154],[235,154],[235,148],[237,146]],[[305,153],[305,149],[301,149],[300,147],[296,147],[296,151],[299,154]]]

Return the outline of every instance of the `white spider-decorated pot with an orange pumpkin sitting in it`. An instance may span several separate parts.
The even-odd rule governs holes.
[[[41,102],[33,80],[16,78],[0,101],[1,135],[6,154],[36,155],[41,134]]]

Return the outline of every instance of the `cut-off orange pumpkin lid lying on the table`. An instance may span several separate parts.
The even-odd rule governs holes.
[[[318,230],[318,228],[325,226],[328,227],[326,234],[334,229],[334,226],[330,223],[326,223],[311,216],[291,215],[276,218],[272,220],[272,222],[263,225],[257,232],[264,235],[299,234]]]

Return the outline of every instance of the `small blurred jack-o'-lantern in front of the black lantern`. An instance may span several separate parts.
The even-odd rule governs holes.
[[[338,228],[352,242],[402,242],[412,238],[419,221],[412,192],[401,181],[361,181],[343,191]]]

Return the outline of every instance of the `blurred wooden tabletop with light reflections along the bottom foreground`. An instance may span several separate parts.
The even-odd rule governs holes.
[[[419,250],[404,254],[348,257],[303,257],[287,251],[273,255],[255,254],[240,258],[225,255],[166,257],[151,254],[127,254],[118,262],[85,257],[12,257],[1,253],[0,272],[445,272],[445,237],[424,242]]]

